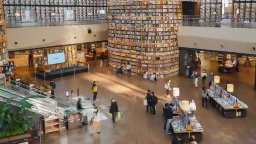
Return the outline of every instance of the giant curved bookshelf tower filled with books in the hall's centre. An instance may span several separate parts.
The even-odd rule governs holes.
[[[109,0],[109,64],[115,70],[130,61],[132,75],[144,71],[157,78],[178,75],[178,0]]]

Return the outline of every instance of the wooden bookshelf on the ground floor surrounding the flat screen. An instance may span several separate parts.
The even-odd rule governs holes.
[[[61,52],[65,53],[65,62],[48,65],[47,55]],[[77,45],[32,50],[32,59],[34,69],[48,70],[50,68],[69,67],[77,62]]]

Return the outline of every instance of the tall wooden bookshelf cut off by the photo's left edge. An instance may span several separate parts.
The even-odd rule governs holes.
[[[8,64],[8,51],[7,51],[7,33],[5,26],[5,19],[3,14],[3,3],[0,0],[0,31],[1,31],[1,41],[0,41],[0,72],[3,71],[3,65]]]

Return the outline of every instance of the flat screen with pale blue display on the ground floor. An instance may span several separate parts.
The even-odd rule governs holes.
[[[47,55],[48,65],[65,62],[65,53],[51,53]]]

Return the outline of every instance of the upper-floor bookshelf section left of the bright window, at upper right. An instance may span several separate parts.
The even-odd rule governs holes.
[[[222,0],[200,0],[200,18],[203,21],[221,21]]]

